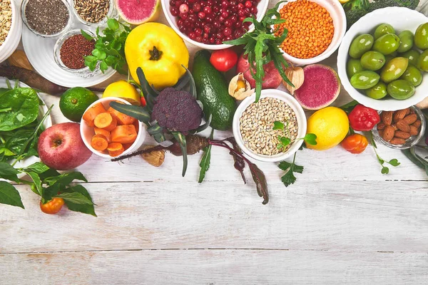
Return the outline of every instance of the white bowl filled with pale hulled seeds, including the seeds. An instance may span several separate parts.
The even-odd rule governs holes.
[[[282,128],[274,128],[277,125]],[[305,135],[305,111],[292,95],[280,90],[262,90],[257,103],[255,94],[245,98],[233,117],[236,142],[255,160],[285,160],[300,148]]]

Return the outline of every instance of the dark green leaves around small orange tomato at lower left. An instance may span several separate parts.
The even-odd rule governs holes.
[[[17,175],[20,173],[29,175],[32,182],[19,179]],[[91,195],[85,187],[71,186],[71,182],[74,180],[88,182],[81,172],[69,172],[61,175],[42,162],[22,168],[14,168],[7,162],[0,162],[0,178],[29,185],[34,193],[41,196],[42,203],[59,197],[64,199],[71,211],[92,214],[96,217]],[[0,182],[0,204],[10,204],[24,209],[18,190],[14,185],[4,181]]]

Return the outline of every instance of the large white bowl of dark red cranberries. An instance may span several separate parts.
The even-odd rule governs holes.
[[[245,18],[260,21],[268,0],[161,0],[170,26],[188,43],[217,50],[230,45],[223,41],[240,38],[254,28]]]

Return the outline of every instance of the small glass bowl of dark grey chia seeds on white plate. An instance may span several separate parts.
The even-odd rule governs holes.
[[[37,36],[54,38],[71,26],[71,8],[66,0],[24,0],[22,20]]]

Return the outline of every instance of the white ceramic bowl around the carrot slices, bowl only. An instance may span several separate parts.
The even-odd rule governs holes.
[[[123,100],[122,98],[106,97],[106,98],[101,98],[99,100],[96,100],[94,103],[89,105],[89,107],[86,110],[88,110],[93,105],[98,104],[98,103],[103,104],[104,108],[106,108],[106,110],[107,110],[108,108],[110,108],[110,102],[111,101],[120,101],[122,103],[125,103],[126,105],[131,105],[131,103],[129,103],[126,100]],[[85,110],[85,112],[86,112],[86,110]],[[86,124],[86,122],[82,119],[81,120],[81,137],[82,137],[83,142],[85,143],[86,147],[88,147],[88,149],[91,150],[91,152],[93,152],[94,154],[96,154],[98,156],[106,157],[106,158],[112,158],[110,155],[107,155],[105,153],[102,153],[102,152],[99,152],[98,150],[93,149],[93,147],[91,146],[91,138],[93,137],[93,135],[95,135],[95,131],[93,130],[93,128],[89,127]],[[146,125],[144,125],[143,123],[138,121],[138,135],[137,135],[136,141],[133,142],[131,147],[129,147],[128,150],[125,150],[121,155],[126,155],[130,152],[138,150],[138,148],[140,148],[141,145],[143,145],[145,138],[146,138]]]

